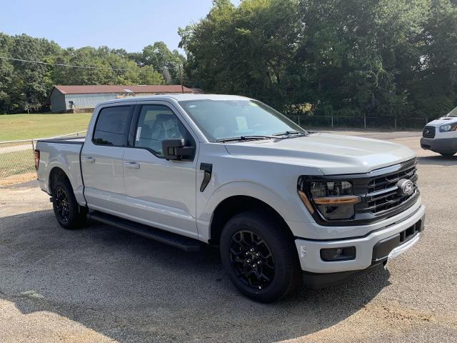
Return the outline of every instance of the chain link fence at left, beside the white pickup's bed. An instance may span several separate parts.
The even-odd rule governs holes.
[[[35,146],[39,139],[85,136],[86,131],[61,136],[24,139],[20,141],[0,141],[0,180],[24,174],[34,174]]]

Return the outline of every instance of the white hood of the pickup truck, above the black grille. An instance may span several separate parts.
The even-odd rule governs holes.
[[[226,143],[226,149],[233,157],[315,167],[325,175],[367,173],[416,156],[400,144],[326,133],[236,141]]]

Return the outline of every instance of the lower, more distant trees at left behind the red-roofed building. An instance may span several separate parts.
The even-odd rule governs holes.
[[[159,51],[151,51],[146,63],[135,53],[106,46],[62,49],[54,41],[36,39],[26,34],[8,36],[0,33],[0,56],[51,64],[94,66],[105,69],[70,68],[31,64],[0,59],[0,113],[46,109],[54,84],[164,84],[163,66],[176,69],[176,61],[184,61],[178,51],[169,51],[163,42]],[[148,48],[148,46],[146,46]],[[146,50],[145,48],[145,50]],[[144,56],[144,51],[139,53]],[[123,69],[123,70],[109,70]],[[171,71],[176,81],[176,70]]]

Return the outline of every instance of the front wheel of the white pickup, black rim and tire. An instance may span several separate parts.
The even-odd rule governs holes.
[[[231,282],[258,302],[276,302],[301,283],[293,237],[266,212],[231,218],[221,233],[220,252]]]

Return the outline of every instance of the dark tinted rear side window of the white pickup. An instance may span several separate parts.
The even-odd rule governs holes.
[[[130,119],[131,106],[112,106],[101,109],[92,140],[95,144],[127,146]]]

